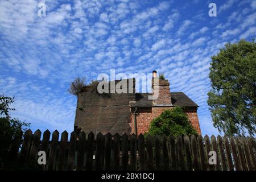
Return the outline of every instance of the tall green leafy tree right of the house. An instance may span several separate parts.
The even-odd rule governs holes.
[[[208,105],[213,126],[228,135],[255,134],[256,44],[226,44],[212,56]]]

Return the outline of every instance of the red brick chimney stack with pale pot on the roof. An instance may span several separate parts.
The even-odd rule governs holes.
[[[154,106],[172,106],[171,93],[170,93],[170,82],[165,79],[160,79],[156,75],[156,71],[152,72],[152,94],[157,95],[158,98],[153,100]]]

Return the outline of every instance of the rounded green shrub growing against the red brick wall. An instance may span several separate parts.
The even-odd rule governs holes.
[[[195,129],[193,129],[191,123],[188,120],[187,114],[184,113],[181,107],[175,107],[174,109],[164,110],[163,113],[152,120],[148,134],[154,136],[158,135],[197,135]]]

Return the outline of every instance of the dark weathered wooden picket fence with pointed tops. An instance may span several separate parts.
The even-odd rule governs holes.
[[[27,130],[19,152],[19,166],[40,170],[255,170],[255,138],[155,136],[126,134],[77,135],[46,130]],[[45,151],[47,164],[38,164]],[[209,164],[210,151],[216,164]]]

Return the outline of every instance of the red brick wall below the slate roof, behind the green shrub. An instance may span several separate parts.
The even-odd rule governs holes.
[[[138,135],[144,134],[148,131],[150,126],[150,122],[152,119],[158,117],[165,109],[173,109],[174,107],[152,107],[151,108],[140,108],[137,110],[137,129]],[[201,134],[199,119],[197,116],[196,108],[189,108],[185,110],[185,113],[188,115],[188,119],[191,122],[192,126],[196,129],[197,133]],[[132,128],[132,133],[135,133],[134,128],[134,114],[131,115],[131,123],[130,126]]]

